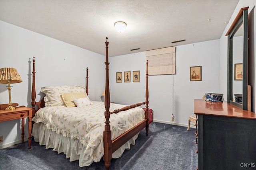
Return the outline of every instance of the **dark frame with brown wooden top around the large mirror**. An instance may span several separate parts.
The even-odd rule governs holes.
[[[228,100],[227,102],[233,104],[243,110],[248,110],[248,8],[241,8],[232,25],[228,29],[226,36],[228,36]],[[243,82],[242,82],[242,104],[233,101],[233,37],[239,27],[243,24]]]

